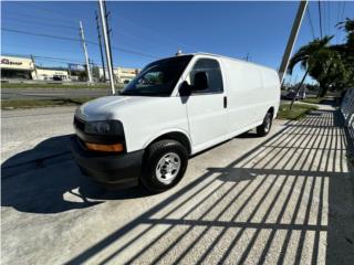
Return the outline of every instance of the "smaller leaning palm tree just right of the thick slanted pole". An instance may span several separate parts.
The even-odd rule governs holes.
[[[303,82],[305,81],[308,74],[316,80],[316,76],[313,76],[311,73],[311,68],[313,65],[313,62],[317,62],[316,60],[319,52],[323,51],[324,49],[329,47],[330,41],[333,36],[324,36],[323,39],[315,39],[314,41],[310,42],[309,44],[300,47],[300,50],[292,56],[289,63],[288,73],[292,74],[292,71],[296,64],[300,63],[301,67],[305,70],[305,73],[302,77],[302,81],[300,82],[300,85],[298,87],[298,92],[300,91],[301,86],[303,85]],[[310,64],[311,62],[311,64]],[[321,82],[320,86],[322,85]],[[322,88],[323,89],[323,88]],[[290,105],[290,108],[293,105],[293,102]]]

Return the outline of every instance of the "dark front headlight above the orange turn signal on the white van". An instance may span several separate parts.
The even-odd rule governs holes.
[[[118,120],[90,121],[85,124],[85,132],[90,135],[123,135],[123,125]]]

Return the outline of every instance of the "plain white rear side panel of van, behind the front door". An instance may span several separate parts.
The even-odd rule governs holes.
[[[275,71],[256,64],[222,61],[228,85],[228,132],[235,136],[260,125],[270,107],[278,110],[279,77]]]

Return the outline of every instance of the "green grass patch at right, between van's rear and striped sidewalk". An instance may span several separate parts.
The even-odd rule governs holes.
[[[299,120],[302,119],[309,114],[311,110],[317,109],[317,106],[308,105],[308,104],[299,104],[294,103],[292,109],[289,109],[290,104],[282,104],[279,107],[278,118],[280,119],[291,119]]]

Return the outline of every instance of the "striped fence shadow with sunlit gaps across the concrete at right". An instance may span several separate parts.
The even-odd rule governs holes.
[[[66,264],[353,264],[351,149],[340,112],[314,110]]]

